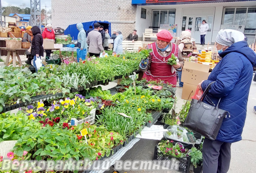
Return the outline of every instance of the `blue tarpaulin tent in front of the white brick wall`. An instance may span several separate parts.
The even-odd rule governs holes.
[[[84,29],[87,31],[89,29],[89,26],[90,25],[93,26],[93,24],[95,24],[95,23],[99,23],[100,25],[102,25],[104,30],[108,29],[108,33],[110,35],[110,33],[111,33],[111,23],[110,22],[107,22],[107,21],[91,21],[91,22],[84,22],[82,24],[84,26]],[[78,33],[79,33],[79,31],[76,28],[76,24],[69,25],[67,27],[67,29],[64,31],[65,35],[70,34],[72,38],[74,37],[74,40],[77,40]]]

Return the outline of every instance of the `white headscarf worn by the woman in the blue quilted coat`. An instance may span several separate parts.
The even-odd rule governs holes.
[[[232,29],[221,29],[215,39],[217,43],[223,46],[231,46],[238,41],[244,41],[245,35]]]

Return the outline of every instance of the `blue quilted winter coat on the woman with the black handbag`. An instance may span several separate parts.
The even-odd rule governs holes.
[[[217,140],[232,143],[242,140],[253,76],[252,64],[256,64],[256,54],[248,47],[246,41],[239,41],[219,55],[222,60],[201,86],[205,90],[209,83],[216,81],[211,85],[207,96],[215,105],[221,98],[219,108],[230,113],[230,117],[227,115],[223,119]],[[204,102],[209,103],[206,99]]]

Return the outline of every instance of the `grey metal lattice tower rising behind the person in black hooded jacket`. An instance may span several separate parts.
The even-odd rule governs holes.
[[[30,0],[30,25],[38,26],[41,30],[41,2],[40,0]]]

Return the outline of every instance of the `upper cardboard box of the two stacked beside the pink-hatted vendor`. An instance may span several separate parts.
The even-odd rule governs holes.
[[[202,80],[208,78],[209,69],[209,65],[185,61],[182,69],[181,81],[197,86]]]

